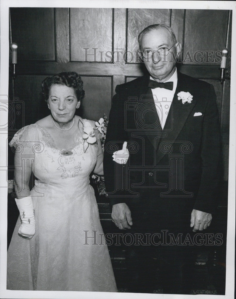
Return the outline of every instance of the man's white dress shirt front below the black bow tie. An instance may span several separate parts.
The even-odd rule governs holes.
[[[165,126],[166,123],[166,118],[167,115],[169,113],[169,109],[170,109],[170,105],[172,103],[174,94],[175,94],[175,90],[176,90],[176,86],[177,86],[177,70],[175,68],[175,72],[174,74],[165,81],[169,82],[172,81],[173,82],[173,90],[169,90],[169,89],[165,89],[165,88],[160,88],[160,87],[156,87],[154,89],[152,89],[152,95],[153,95],[153,99],[155,102],[155,106],[157,109],[157,113],[161,122],[161,127],[162,129]],[[150,76],[150,80],[154,80],[151,76]]]

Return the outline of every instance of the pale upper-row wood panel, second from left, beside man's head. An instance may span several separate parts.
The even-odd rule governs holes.
[[[71,8],[70,61],[105,62],[106,51],[112,51],[112,8]]]

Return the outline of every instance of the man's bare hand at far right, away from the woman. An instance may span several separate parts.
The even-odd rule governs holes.
[[[194,227],[192,231],[202,231],[211,224],[212,214],[193,209],[190,222],[190,227]]]

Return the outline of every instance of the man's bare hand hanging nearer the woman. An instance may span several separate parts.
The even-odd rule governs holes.
[[[112,206],[112,221],[119,229],[131,228],[133,222],[127,204],[122,202]]]

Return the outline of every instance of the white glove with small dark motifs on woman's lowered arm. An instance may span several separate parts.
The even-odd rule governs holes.
[[[31,239],[35,234],[35,218],[34,207],[31,196],[23,197],[21,199],[15,198],[16,205],[20,211],[21,226],[18,234],[27,239]]]

